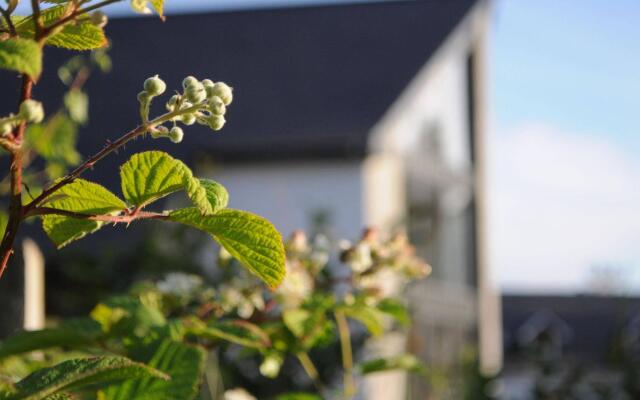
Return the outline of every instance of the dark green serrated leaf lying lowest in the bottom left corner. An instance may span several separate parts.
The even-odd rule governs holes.
[[[27,376],[15,385],[17,393],[10,399],[46,399],[59,392],[134,378],[169,379],[166,374],[125,357],[74,359]]]

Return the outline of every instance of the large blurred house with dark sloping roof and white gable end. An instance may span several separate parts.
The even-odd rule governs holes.
[[[113,20],[114,69],[87,84],[100,95],[83,154],[138,124],[136,94],[152,74],[169,88],[190,74],[224,80],[235,100],[220,134],[193,127],[180,145],[137,141],[89,177],[117,190],[117,165],[151,145],[285,235],[319,223],[334,238],[405,226],[434,266],[412,292],[412,350],[449,367],[471,343],[496,369],[499,307],[482,242],[488,7],[416,0]],[[36,93],[59,91],[42,79]]]

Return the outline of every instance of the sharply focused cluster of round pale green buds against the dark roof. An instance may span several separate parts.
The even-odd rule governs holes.
[[[193,76],[188,76],[182,81],[182,93],[171,96],[166,104],[167,111],[172,116],[173,127],[171,129],[162,125],[155,126],[151,130],[153,138],[167,137],[174,143],[180,143],[184,136],[183,130],[176,124],[184,125],[198,123],[205,125],[214,131],[219,131],[224,126],[224,118],[227,106],[233,100],[233,90],[224,82],[213,82],[210,79],[199,81]],[[140,102],[140,115],[144,122],[149,122],[149,108],[154,97],[163,94],[167,85],[158,75],[144,82],[144,90],[138,94]]]

